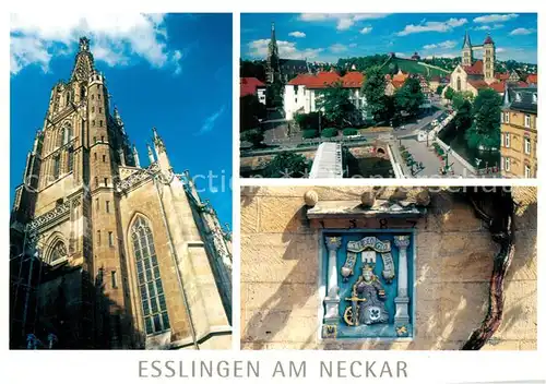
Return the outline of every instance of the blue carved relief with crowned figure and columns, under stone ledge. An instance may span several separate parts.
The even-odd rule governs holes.
[[[415,232],[429,199],[313,201],[319,231],[320,338],[388,340],[414,336]],[[428,193],[428,192],[427,192]]]

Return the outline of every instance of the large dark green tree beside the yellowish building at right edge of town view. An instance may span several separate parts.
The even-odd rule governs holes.
[[[500,146],[501,104],[501,97],[494,89],[479,91],[472,111],[474,122],[465,133],[471,148],[490,149]]]

